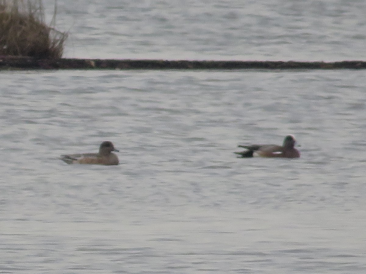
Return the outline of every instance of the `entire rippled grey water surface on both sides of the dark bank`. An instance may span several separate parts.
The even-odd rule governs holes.
[[[66,57],[365,60],[365,3],[59,1],[57,22]],[[365,273],[365,71],[0,76],[1,273]],[[300,159],[233,153],[287,134]],[[104,140],[120,165],[59,160]]]

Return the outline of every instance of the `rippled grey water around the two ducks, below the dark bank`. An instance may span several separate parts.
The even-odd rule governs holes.
[[[364,71],[1,78],[3,273],[365,272]],[[120,165],[58,159],[103,140]]]

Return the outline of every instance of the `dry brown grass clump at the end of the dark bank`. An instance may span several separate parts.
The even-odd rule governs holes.
[[[60,58],[67,33],[44,23],[42,0],[0,0],[0,55]]]

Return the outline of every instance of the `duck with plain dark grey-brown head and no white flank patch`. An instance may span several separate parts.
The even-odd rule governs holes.
[[[112,142],[104,141],[99,146],[98,153],[82,153],[61,155],[61,160],[68,164],[97,164],[97,165],[117,165],[119,163],[117,155],[112,151],[118,151]]]

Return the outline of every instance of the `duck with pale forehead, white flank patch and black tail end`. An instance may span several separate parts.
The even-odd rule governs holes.
[[[234,152],[239,157],[249,158],[253,156],[299,158],[300,152],[294,147],[296,141],[294,136],[287,135],[283,145],[238,145],[239,148],[246,148],[246,151]]]

